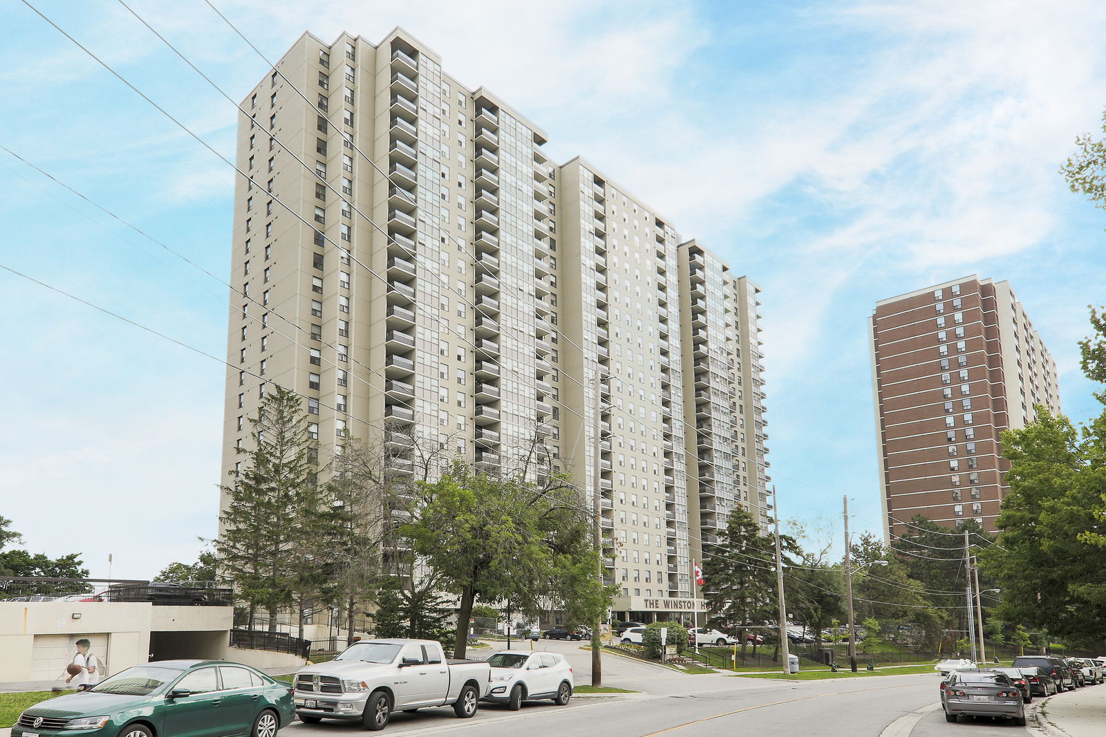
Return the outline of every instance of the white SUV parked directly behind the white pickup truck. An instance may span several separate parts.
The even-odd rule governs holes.
[[[552,698],[564,706],[572,698],[572,667],[560,653],[504,650],[489,657],[488,665],[491,691],[486,702],[517,712],[523,702]]]

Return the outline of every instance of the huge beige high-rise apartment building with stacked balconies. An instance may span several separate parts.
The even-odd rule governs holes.
[[[615,611],[689,615],[702,541],[768,522],[758,288],[400,29],[306,33],[242,106],[225,470],[268,382],[323,460],[348,432],[494,471],[538,434],[601,487]]]

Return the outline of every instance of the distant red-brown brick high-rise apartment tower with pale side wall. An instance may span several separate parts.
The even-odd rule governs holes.
[[[999,434],[1060,412],[1056,364],[1010,283],[971,276],[876,303],[869,324],[884,530],[916,513],[994,529]]]

